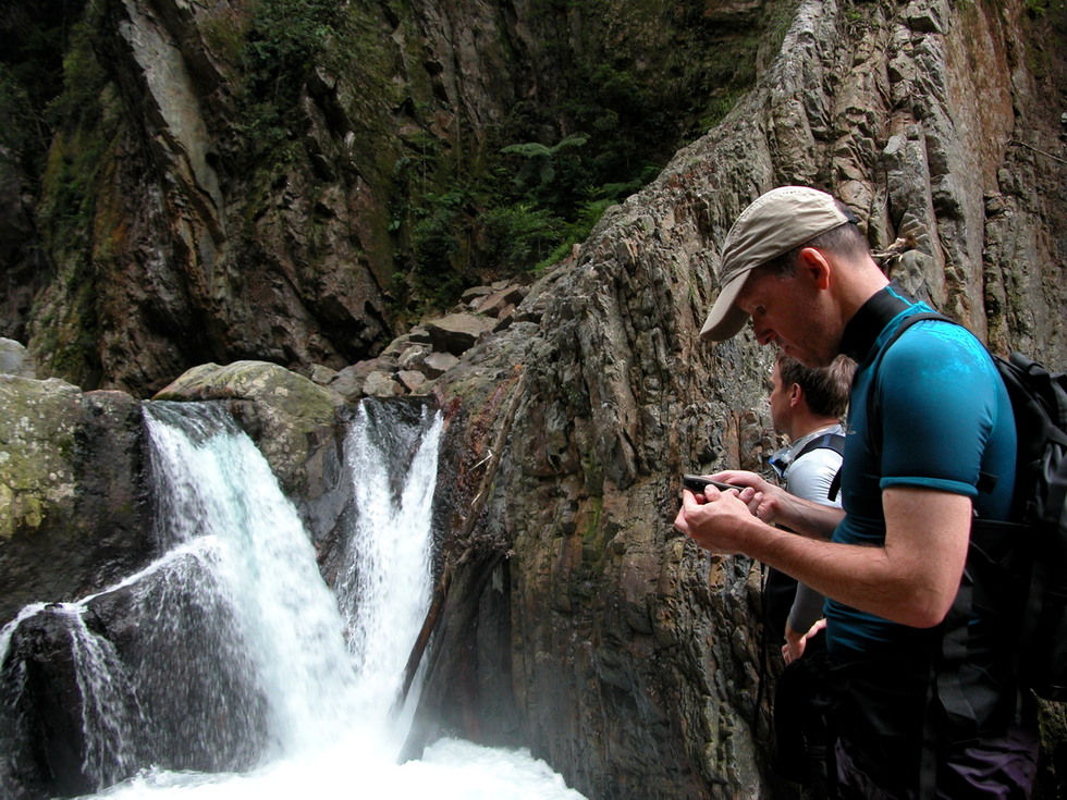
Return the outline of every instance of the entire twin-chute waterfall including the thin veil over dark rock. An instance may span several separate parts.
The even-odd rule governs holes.
[[[354,512],[331,590],[296,508],[223,406],[146,404],[161,555],[0,630],[0,789],[27,749],[30,670],[8,657],[25,633],[68,652],[75,676],[65,691],[83,743],[68,793],[314,800],[358,780],[379,787],[371,797],[580,799],[526,751],[442,741],[396,764],[409,712],[390,712],[430,602],[442,429],[413,408],[365,401],[347,431]]]

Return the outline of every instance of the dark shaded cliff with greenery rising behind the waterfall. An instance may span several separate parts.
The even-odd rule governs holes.
[[[721,115],[763,16],[11,3],[0,334],[41,374],[139,396],[208,361],[377,355],[412,306],[531,269]]]

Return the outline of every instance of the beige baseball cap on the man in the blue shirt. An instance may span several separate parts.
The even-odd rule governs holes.
[[[722,288],[700,336],[722,342],[745,327],[748,315],[734,301],[752,269],[846,222],[856,218],[838,208],[833,196],[807,186],[780,186],[756,198],[723,242]]]

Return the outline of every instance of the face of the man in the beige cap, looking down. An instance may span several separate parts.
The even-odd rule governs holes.
[[[806,275],[753,274],[737,297],[752,318],[756,340],[776,344],[808,367],[827,367],[837,355],[826,297]]]

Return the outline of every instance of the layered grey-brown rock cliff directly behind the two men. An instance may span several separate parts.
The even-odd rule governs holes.
[[[137,27],[120,22],[123,30]],[[415,392],[445,410],[450,480],[441,499],[445,603],[409,752],[442,733],[522,743],[597,800],[772,796],[761,762],[755,567],[709,558],[671,526],[680,473],[758,469],[772,445],[763,406],[769,354],[747,334],[716,346],[697,340],[718,248],[760,192],[780,183],[826,187],[855,209],[894,278],[995,348],[1062,367],[1064,32],[1058,3],[796,4],[784,39],[768,40],[774,47],[756,88],[721,124],[611,209],[443,374],[417,382]],[[200,169],[194,149],[174,149],[191,175]],[[205,156],[201,167],[212,161]],[[309,183],[274,188],[275,204],[318,196]],[[172,223],[210,216],[210,192],[200,194],[175,204],[168,237]],[[142,219],[138,209],[120,208],[112,221]],[[210,225],[194,229],[199,236]],[[180,251],[213,247],[197,236],[182,239]],[[265,238],[265,258],[284,260],[278,254],[295,241]],[[138,253],[158,258],[147,245]],[[265,267],[259,276],[297,296],[308,273],[279,274]],[[184,280],[131,281],[122,291],[144,294],[128,318],[163,297],[199,308]],[[273,319],[262,309],[279,306],[253,305],[265,295],[253,285],[259,278],[247,280],[237,294],[260,311],[241,324],[161,315],[146,330],[170,331],[168,339],[198,319],[189,341],[223,341],[223,330],[258,336]],[[289,330],[279,334],[291,343],[284,364],[352,360],[336,348],[336,359],[319,359],[308,348],[321,340]],[[109,341],[127,346],[120,340]],[[393,371],[425,362],[434,345],[415,354],[422,346],[418,337],[395,343]],[[145,340],[130,348],[128,359],[113,361],[140,360],[143,377],[128,385],[188,366],[179,349]],[[220,352],[230,358],[219,360],[232,360],[243,349]],[[161,354],[174,361],[148,365]],[[367,374],[353,396],[373,385]],[[214,385],[191,391],[230,392]],[[255,399],[269,406],[269,386],[256,385]],[[401,391],[396,381],[378,385]],[[68,402],[84,407],[84,397]],[[1058,758],[1050,792],[1067,774]]]

